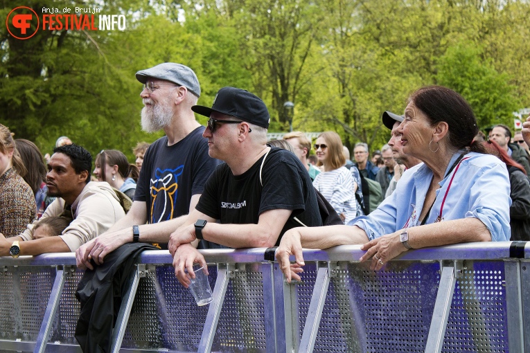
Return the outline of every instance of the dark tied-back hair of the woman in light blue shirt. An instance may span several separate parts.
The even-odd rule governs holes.
[[[457,92],[442,86],[422,87],[412,93],[409,102],[423,111],[432,125],[447,123],[449,143],[457,150],[468,147],[472,152],[487,153],[484,145],[474,140],[479,132],[475,114]]]

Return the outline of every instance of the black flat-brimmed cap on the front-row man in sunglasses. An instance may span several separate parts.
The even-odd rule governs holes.
[[[212,111],[233,116],[240,120],[246,121],[267,129],[270,123],[269,111],[267,106],[258,96],[245,89],[236,89],[234,87],[223,87],[215,95],[211,108],[202,105],[194,105],[191,110],[195,113],[210,116]]]

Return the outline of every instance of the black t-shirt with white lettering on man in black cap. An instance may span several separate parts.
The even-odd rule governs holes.
[[[261,172],[263,186],[262,161],[263,157],[238,176],[232,174],[226,163],[219,165],[204,185],[197,210],[221,224],[258,224],[259,215],[267,210],[292,210],[281,235],[301,226],[293,217],[306,226],[321,226],[315,188],[297,156],[272,147]]]

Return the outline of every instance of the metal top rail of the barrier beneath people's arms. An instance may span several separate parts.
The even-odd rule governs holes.
[[[222,262],[264,262],[267,248],[215,249],[200,251],[209,263]],[[360,245],[342,245],[326,250],[304,249],[306,261],[348,261],[357,262],[365,251]],[[432,248],[406,251],[393,260],[433,261],[433,260],[502,260],[517,257],[530,259],[530,242],[475,242],[436,246]],[[294,260],[294,257],[291,257]],[[144,251],[141,264],[171,264],[173,257],[169,251]],[[48,253],[38,256],[0,257],[0,266],[75,266],[74,253]]]

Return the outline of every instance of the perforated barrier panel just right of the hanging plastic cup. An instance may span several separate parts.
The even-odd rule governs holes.
[[[238,266],[224,297],[213,352],[266,352],[263,275],[259,264]]]

